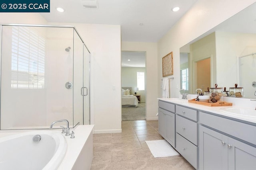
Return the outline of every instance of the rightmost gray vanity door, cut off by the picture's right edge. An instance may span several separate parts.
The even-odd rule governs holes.
[[[255,170],[256,148],[228,138],[228,170]],[[231,146],[232,145],[232,146]]]

